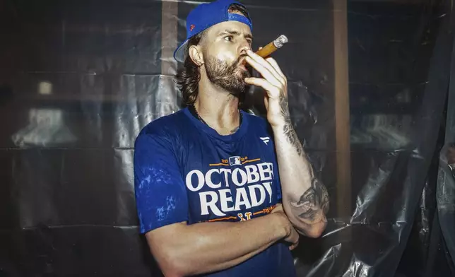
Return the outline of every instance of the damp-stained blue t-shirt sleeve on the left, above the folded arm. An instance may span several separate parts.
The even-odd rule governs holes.
[[[167,136],[137,137],[134,192],[141,233],[188,220],[187,190]]]

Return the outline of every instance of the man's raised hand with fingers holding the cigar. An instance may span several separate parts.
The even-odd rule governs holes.
[[[267,120],[271,126],[283,126],[290,122],[288,107],[288,80],[280,66],[272,58],[262,58],[258,54],[247,51],[245,58],[264,78],[245,78],[245,83],[259,86],[266,90],[264,105],[267,109]]]

